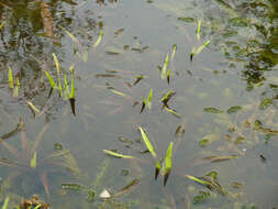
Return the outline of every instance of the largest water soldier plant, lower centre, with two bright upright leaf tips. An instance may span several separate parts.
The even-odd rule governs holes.
[[[153,144],[151,143],[149,139],[147,138],[144,129],[142,127],[138,127],[138,131],[141,133],[141,138],[144,142],[144,145],[146,146],[147,152],[151,153],[151,155],[154,160],[155,179],[157,179],[158,175],[162,174],[162,176],[164,177],[164,183],[163,183],[164,186],[166,186],[168,177],[169,177],[170,173],[173,172],[173,155],[176,152],[176,150],[178,148],[178,146],[181,142],[181,139],[185,134],[185,120],[182,120],[181,124],[178,125],[178,128],[176,130],[176,133],[175,133],[175,136],[177,139],[176,139],[175,143],[170,142],[164,158],[159,158],[157,156],[157,153],[156,153]],[[121,141],[124,141],[124,142],[130,144],[129,140],[126,140],[126,139],[121,140]],[[116,158],[129,160],[129,161],[133,162],[134,164],[136,164],[136,163],[147,163],[147,164],[149,164],[148,162],[145,162],[142,158],[137,158],[133,155],[121,154],[121,153],[119,153],[114,150],[103,150],[103,152],[105,154],[108,154],[110,156],[113,156],[113,157],[116,157]],[[141,152],[141,153],[143,153],[143,152]],[[230,160],[235,160],[235,158],[237,158],[236,155],[227,155],[227,156],[212,155],[212,156],[207,156],[207,157],[203,157],[203,158],[200,158],[200,160],[193,160],[193,162],[191,162],[190,165],[187,165],[186,169],[188,169],[189,166],[191,167],[191,166],[196,166],[196,165],[204,165],[204,164],[224,162],[224,161],[230,161]],[[188,173],[188,172],[186,170],[186,173]],[[215,197],[218,194],[221,195],[221,196],[226,197],[227,199],[235,199],[237,197],[237,194],[229,191],[224,186],[222,186],[219,183],[219,179],[216,178],[218,177],[218,172],[215,172],[215,170],[209,172],[208,174],[203,175],[202,177],[194,177],[191,174],[185,174],[185,168],[178,167],[176,170],[174,170],[173,175],[175,176],[175,178],[178,177],[178,176],[179,177],[186,177],[187,179],[193,180],[198,185],[203,186],[205,189],[209,189],[209,191],[208,190],[199,190],[199,194],[194,193],[193,196],[192,196],[192,194],[190,194],[190,196],[192,196],[192,202],[193,204],[200,204],[200,202],[207,201],[211,198],[211,195]],[[141,179],[141,182],[142,182],[142,179]],[[192,187],[192,186],[189,186],[189,187]],[[168,189],[170,189],[170,188],[168,188]],[[167,191],[167,195],[169,195],[168,189],[165,190],[165,191]],[[170,197],[167,197],[167,198],[170,198]],[[175,198],[173,197],[171,200],[175,201],[174,199]]]

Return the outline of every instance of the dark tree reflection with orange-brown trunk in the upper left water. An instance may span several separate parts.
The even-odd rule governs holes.
[[[77,3],[71,0],[0,2],[0,23],[4,23],[0,30],[0,67],[3,69],[0,74],[7,84],[8,66],[13,68],[13,75],[20,79],[21,99],[33,99],[42,107],[38,101],[47,98],[49,87],[43,77],[44,69],[56,72],[52,53],[63,62],[70,50],[62,44],[63,38],[68,37],[62,28],[74,33],[85,47],[91,45],[98,23],[88,9],[78,12]]]

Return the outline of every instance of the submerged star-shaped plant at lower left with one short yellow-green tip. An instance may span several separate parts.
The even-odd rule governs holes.
[[[22,123],[21,125],[23,127],[24,124]],[[54,153],[42,157],[42,153],[38,152],[38,147],[47,128],[48,125],[46,124],[32,144],[27,141],[24,129],[22,129],[22,152],[19,152],[15,147],[10,145],[7,140],[0,139],[0,144],[13,155],[12,158],[1,158],[0,165],[9,166],[14,169],[14,172],[10,175],[9,180],[11,180],[11,178],[19,177],[22,174],[35,174],[35,176],[41,178],[45,193],[49,195],[47,180],[48,174],[57,172],[60,173],[63,167],[69,169],[73,174],[79,174],[80,169],[68,150],[59,148]]]

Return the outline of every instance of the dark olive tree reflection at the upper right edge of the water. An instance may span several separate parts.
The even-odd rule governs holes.
[[[256,29],[257,36],[263,37],[255,36],[248,40],[246,50],[253,50],[252,47],[259,50],[247,54],[248,62],[246,70],[243,72],[248,85],[258,84],[265,79],[264,72],[271,70],[278,64],[278,29],[275,26],[278,21],[278,2],[274,0],[265,3],[263,1],[244,2],[240,4],[240,8],[246,8],[245,15],[256,18],[252,26]]]

